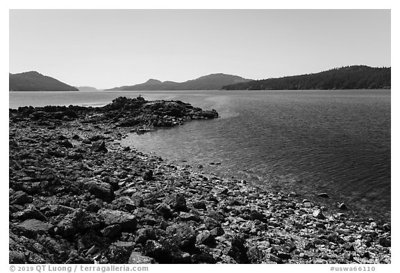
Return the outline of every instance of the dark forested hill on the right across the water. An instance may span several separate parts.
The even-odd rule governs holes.
[[[315,74],[225,85],[223,90],[335,90],[390,88],[390,67],[353,65]]]

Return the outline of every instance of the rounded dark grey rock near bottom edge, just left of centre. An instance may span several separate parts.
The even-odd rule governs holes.
[[[196,242],[196,233],[192,226],[188,224],[173,224],[172,226],[168,226],[167,234],[181,249],[191,249]]]

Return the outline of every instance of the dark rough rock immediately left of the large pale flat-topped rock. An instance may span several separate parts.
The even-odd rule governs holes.
[[[67,238],[88,229],[99,229],[99,227],[100,222],[97,215],[94,213],[87,213],[83,209],[78,208],[73,213],[65,216],[63,220],[57,224],[56,233]]]

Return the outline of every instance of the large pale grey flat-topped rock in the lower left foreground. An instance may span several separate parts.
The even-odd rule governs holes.
[[[97,215],[103,220],[106,226],[119,224],[123,231],[130,231],[136,228],[138,220],[134,215],[126,213],[122,210],[110,210],[108,208],[101,208]]]

